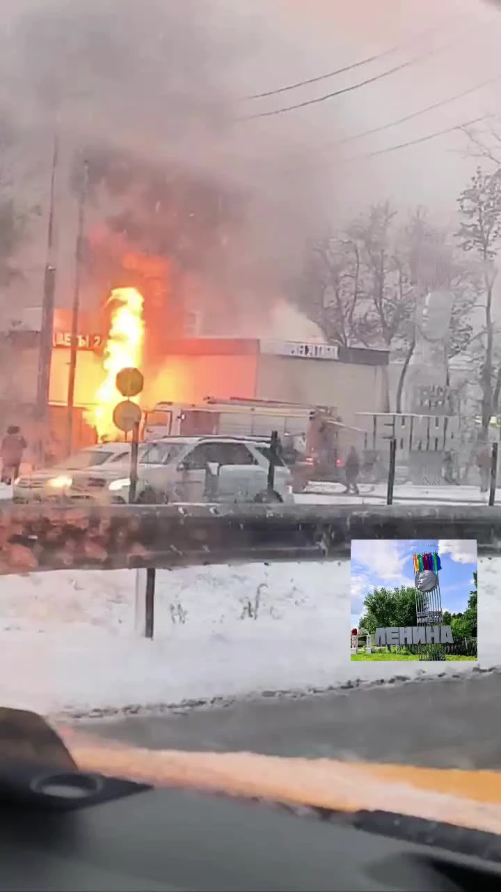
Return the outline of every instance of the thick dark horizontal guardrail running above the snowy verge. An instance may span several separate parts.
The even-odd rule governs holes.
[[[476,539],[501,552],[501,508],[165,505],[0,508],[0,574],[349,558],[352,539]]]

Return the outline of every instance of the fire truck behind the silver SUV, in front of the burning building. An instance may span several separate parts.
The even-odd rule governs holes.
[[[201,404],[159,402],[144,414],[144,440],[223,435],[269,439],[276,431],[294,489],[314,481],[337,482],[344,456],[365,432],[344,425],[336,409],[297,403],[207,397]]]

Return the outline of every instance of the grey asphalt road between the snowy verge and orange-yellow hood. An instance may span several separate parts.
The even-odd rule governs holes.
[[[79,723],[137,747],[501,770],[501,673]]]

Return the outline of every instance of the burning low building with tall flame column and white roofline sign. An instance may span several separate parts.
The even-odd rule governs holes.
[[[109,334],[83,332],[78,351],[75,405],[101,437],[117,435],[111,420],[121,399],[115,378],[120,368],[130,366],[144,373],[144,392],[138,398],[144,410],[162,401],[193,404],[209,396],[236,397],[332,406],[345,423],[353,424],[357,411],[386,406],[386,351],[269,337],[169,338],[165,334],[161,358],[151,358],[144,350],[142,295],[136,289],[121,289],[112,293],[111,305]],[[70,348],[67,335],[56,332],[54,338],[51,401],[61,405]]]

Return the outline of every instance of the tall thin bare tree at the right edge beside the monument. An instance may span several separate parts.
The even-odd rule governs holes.
[[[470,186],[458,198],[461,225],[457,236],[465,252],[480,262],[485,336],[480,365],[481,430],[487,435],[489,420],[497,409],[501,390],[501,366],[495,365],[495,325],[492,298],[497,269],[494,261],[501,244],[501,171],[486,173],[478,167]]]

